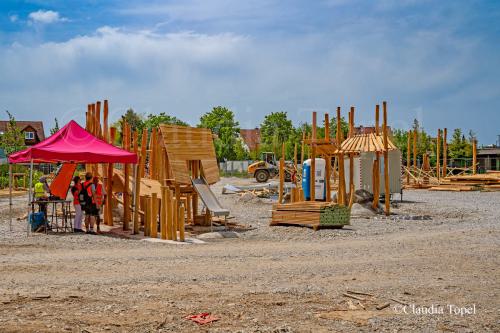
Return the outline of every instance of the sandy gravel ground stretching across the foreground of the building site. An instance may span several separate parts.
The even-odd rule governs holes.
[[[213,189],[251,230],[190,245],[26,237],[1,198],[0,331],[499,332],[500,192],[409,190],[390,218],[314,232],[221,195],[245,181]],[[185,319],[202,312],[219,320]]]

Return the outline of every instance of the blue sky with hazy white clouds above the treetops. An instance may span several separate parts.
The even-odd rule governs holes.
[[[83,124],[108,99],[192,125],[226,106],[241,128],[286,111],[370,126],[413,119],[500,135],[500,1],[30,0],[0,2],[0,119]]]

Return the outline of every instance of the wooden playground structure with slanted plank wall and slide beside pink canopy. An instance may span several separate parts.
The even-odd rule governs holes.
[[[104,223],[114,224],[113,208],[123,207],[123,230],[164,240],[185,240],[185,225],[209,226],[213,217],[229,211],[220,207],[209,185],[219,181],[213,136],[205,128],[160,125],[151,132],[133,130],[124,119],[121,131],[108,128],[108,101],[89,104],[86,129],[96,137],[114,144],[121,134],[122,148],[135,152],[139,163],[87,165],[99,175],[108,193]],[[204,209],[199,211],[199,199]]]

